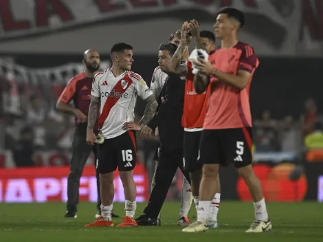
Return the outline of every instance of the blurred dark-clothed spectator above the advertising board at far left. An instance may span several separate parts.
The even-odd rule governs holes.
[[[34,133],[30,127],[25,127],[20,132],[19,141],[16,142],[12,155],[17,167],[34,166]]]

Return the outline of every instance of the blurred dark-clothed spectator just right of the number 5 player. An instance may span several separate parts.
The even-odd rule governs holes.
[[[278,122],[271,118],[268,110],[263,111],[260,120],[254,121],[254,144],[258,152],[278,151]]]

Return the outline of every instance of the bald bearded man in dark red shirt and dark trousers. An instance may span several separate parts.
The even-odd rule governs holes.
[[[67,180],[67,212],[65,217],[76,218],[77,205],[79,199],[80,177],[82,176],[83,168],[87,162],[87,158],[93,151],[96,157],[96,146],[88,146],[87,137],[87,113],[91,102],[91,89],[94,76],[98,73],[100,67],[100,54],[96,50],[86,50],[84,52],[83,63],[85,66],[84,72],[74,76],[69,80],[67,86],[60,94],[56,108],[60,111],[74,113],[76,128],[74,140],[72,143],[72,156],[69,177]],[[73,100],[74,107],[69,105]],[[98,127],[96,127],[98,130]],[[95,158],[96,159],[96,158]],[[98,204],[97,210],[99,217],[100,211],[100,179],[96,174],[96,183],[98,188]],[[118,217],[113,214],[113,217]]]

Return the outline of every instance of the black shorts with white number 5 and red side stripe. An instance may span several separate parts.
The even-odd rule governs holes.
[[[203,130],[199,160],[221,166],[233,162],[236,168],[252,164],[252,127]]]

